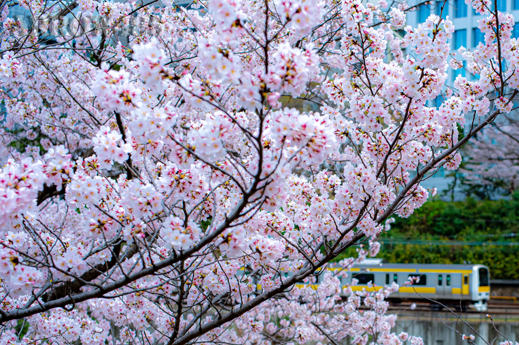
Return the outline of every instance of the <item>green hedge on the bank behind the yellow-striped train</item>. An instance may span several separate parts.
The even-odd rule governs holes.
[[[507,200],[443,202],[431,200],[407,219],[395,217],[377,257],[392,263],[484,264],[492,279],[519,279],[519,246],[495,246],[493,242],[519,242],[519,193]],[[423,240],[423,245],[390,244]],[[455,246],[428,245],[427,240],[456,241]],[[463,242],[485,242],[466,246]],[[350,248],[340,258],[356,256]],[[339,258],[339,259],[340,259]]]

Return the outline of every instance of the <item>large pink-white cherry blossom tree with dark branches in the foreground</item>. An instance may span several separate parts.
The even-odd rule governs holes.
[[[509,111],[511,15],[472,3],[481,77],[453,91],[452,22],[405,26],[405,2],[19,4],[30,27],[1,18],[0,343],[422,343],[391,332],[397,285],[343,279]]]

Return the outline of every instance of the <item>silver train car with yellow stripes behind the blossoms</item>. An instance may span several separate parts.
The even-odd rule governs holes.
[[[419,281],[402,286],[409,277],[419,277]],[[368,259],[354,265],[342,283],[350,284],[353,278],[358,279],[358,284],[352,286],[353,291],[373,291],[394,281],[400,289],[389,298],[429,298],[462,310],[470,306],[486,311],[490,297],[489,270],[484,265],[389,264]],[[369,282],[376,286],[369,287]]]

